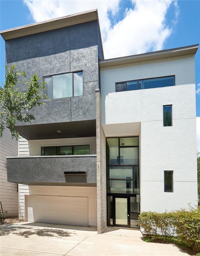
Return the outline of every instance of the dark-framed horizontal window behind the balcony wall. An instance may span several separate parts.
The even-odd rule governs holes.
[[[68,156],[89,154],[89,145],[41,147],[42,156]]]

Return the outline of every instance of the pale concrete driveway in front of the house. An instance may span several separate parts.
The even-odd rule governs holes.
[[[178,256],[188,255],[172,244],[146,243],[141,232],[96,228],[18,223],[1,226],[1,256]]]

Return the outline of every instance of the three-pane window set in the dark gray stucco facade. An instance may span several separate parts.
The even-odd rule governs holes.
[[[44,77],[44,93],[49,99],[83,95],[83,72],[72,72]]]

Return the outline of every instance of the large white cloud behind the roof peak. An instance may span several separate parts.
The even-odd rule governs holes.
[[[132,1],[131,9],[122,10],[120,1],[90,0],[23,0],[36,22],[61,17],[77,12],[98,9],[105,58],[114,58],[151,50],[160,50],[173,31],[177,22],[179,7],[177,1]],[[166,24],[166,14],[174,7],[171,27]],[[111,25],[108,13],[113,20],[123,11],[123,19]]]

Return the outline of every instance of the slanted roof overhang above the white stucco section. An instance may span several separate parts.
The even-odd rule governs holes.
[[[156,52],[142,53],[142,54],[136,54],[136,55],[120,57],[120,58],[100,60],[99,65],[101,68],[106,68],[106,67],[126,65],[126,64],[132,64],[132,63],[143,62],[143,61],[179,57],[184,55],[195,54],[198,48],[199,48],[199,44],[195,44],[195,45],[173,48],[168,50],[161,50]]]

